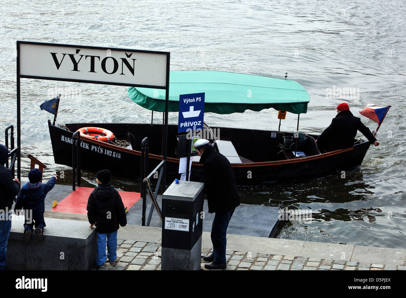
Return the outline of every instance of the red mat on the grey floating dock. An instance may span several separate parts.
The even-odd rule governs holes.
[[[94,190],[90,187],[77,187],[76,191],[72,191],[65,199],[58,202],[52,211],[69,212],[87,214],[87,200],[89,195]],[[119,191],[120,197],[123,200],[124,207],[130,209],[141,198],[140,193],[132,193],[129,191]]]

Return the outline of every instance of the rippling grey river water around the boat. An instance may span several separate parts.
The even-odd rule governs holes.
[[[242,202],[312,211],[311,221],[281,223],[278,238],[406,249],[404,15],[400,0],[5,0],[0,7],[0,127],[16,125],[16,40],[170,51],[171,70],[276,78],[287,72],[311,98],[307,114],[300,115],[300,131],[321,133],[341,102],[356,116],[368,103],[392,105],[378,132],[381,145],[372,146],[361,168],[347,171],[345,178],[337,173],[240,187]],[[333,88],[335,94],[328,96]],[[63,93],[59,123],[150,121],[150,112],[132,103],[125,87],[22,79],[23,182],[28,154],[48,165],[45,178],[69,173],[53,160],[47,125],[53,115],[39,109],[57,93]],[[360,117],[376,129],[376,122]],[[159,123],[162,116],[155,119]],[[288,113],[281,130],[294,131],[296,119]],[[177,123],[176,113],[169,122]],[[274,110],[206,114],[205,122],[272,130],[279,124]],[[95,185],[93,173],[83,176],[85,186]],[[112,182],[124,190],[139,189],[120,177]],[[58,183],[69,184],[69,178]]]

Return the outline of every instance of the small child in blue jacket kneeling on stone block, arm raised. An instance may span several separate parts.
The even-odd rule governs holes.
[[[24,208],[26,218],[24,223],[24,242],[29,243],[33,227],[35,226],[35,234],[39,242],[43,241],[43,231],[45,225],[44,212],[45,212],[45,196],[54,187],[57,175],[51,177],[46,183],[42,184],[42,173],[39,169],[32,169],[28,173],[28,179],[21,188],[15,202],[14,210],[21,210]],[[30,214],[32,210],[32,214]]]

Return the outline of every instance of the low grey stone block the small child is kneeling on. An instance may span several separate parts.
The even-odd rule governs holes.
[[[96,266],[96,229],[86,221],[45,217],[44,241],[33,234],[25,244],[24,220],[13,215],[7,268],[9,270],[92,270]]]

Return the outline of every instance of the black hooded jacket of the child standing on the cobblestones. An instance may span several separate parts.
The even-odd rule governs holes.
[[[124,204],[120,194],[110,183],[99,184],[87,202],[89,223],[96,223],[96,231],[108,234],[127,225]]]

